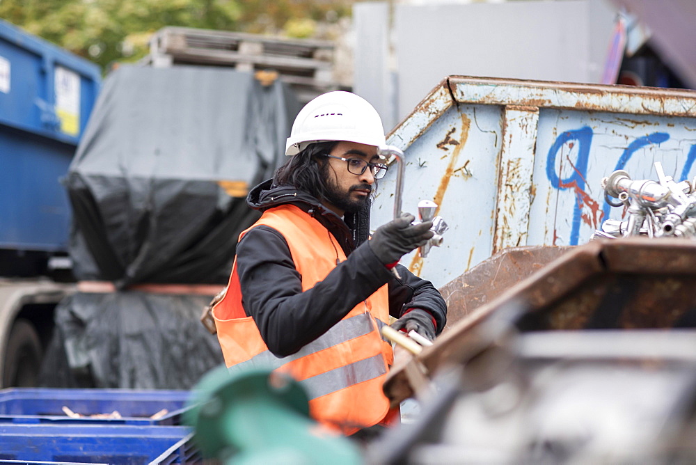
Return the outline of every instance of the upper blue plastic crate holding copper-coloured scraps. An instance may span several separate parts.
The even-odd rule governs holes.
[[[81,423],[109,425],[179,425],[189,391],[132,389],[10,388],[0,391],[0,423]],[[84,415],[70,418],[68,407]],[[150,418],[166,409],[161,418]],[[114,410],[122,418],[90,418]]]

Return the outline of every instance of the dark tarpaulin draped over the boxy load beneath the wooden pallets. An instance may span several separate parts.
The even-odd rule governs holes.
[[[257,218],[246,191],[284,161],[298,110],[280,81],[244,72],[118,68],[66,182],[76,276],[224,283],[237,235]]]

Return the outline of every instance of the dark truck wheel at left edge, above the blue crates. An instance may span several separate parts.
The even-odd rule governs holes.
[[[3,387],[36,386],[41,352],[41,341],[33,324],[24,318],[17,318],[5,349]]]

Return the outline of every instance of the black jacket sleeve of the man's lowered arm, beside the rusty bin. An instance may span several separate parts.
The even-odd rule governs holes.
[[[409,308],[422,308],[435,319],[436,334],[447,323],[447,304],[430,281],[421,279],[408,268],[397,265],[401,279],[394,276],[389,281],[389,314],[398,318]]]

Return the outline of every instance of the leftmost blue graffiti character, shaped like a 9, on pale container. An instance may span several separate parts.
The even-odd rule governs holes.
[[[573,165],[573,173],[564,179],[556,174],[556,156],[565,143],[577,141],[578,159]],[[546,157],[546,177],[551,185],[559,190],[574,189],[576,193],[576,203],[573,208],[573,222],[570,234],[570,244],[578,245],[580,236],[580,221],[582,220],[583,193],[585,191],[585,176],[587,175],[587,159],[590,157],[590,145],[592,144],[592,129],[581,127],[573,131],[566,131],[557,137]]]

